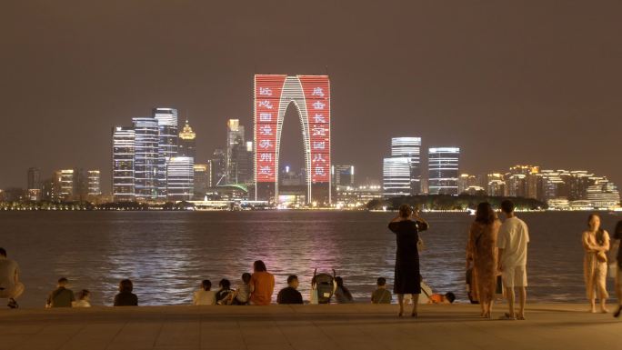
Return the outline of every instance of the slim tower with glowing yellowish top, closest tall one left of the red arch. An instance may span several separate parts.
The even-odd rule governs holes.
[[[238,119],[226,122],[226,184],[240,184],[242,163],[246,158],[246,141],[244,126]],[[242,171],[243,173],[243,171]]]

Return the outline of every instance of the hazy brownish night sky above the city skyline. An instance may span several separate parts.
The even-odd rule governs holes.
[[[333,163],[359,180],[380,179],[391,136],[418,135],[460,146],[462,172],[528,163],[622,185],[622,2],[94,3],[3,2],[0,188],[77,166],[109,191],[111,127],[156,105],[190,119],[205,162],[228,118],[252,136],[254,74],[326,69]],[[286,116],[281,161],[301,164]]]

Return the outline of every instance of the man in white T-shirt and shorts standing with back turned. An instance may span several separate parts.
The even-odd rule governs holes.
[[[499,271],[506,286],[507,305],[509,313],[501,317],[507,320],[524,320],[525,304],[527,303],[527,244],[529,231],[527,224],[514,215],[514,203],[509,200],[501,202],[501,210],[507,219],[499,227],[497,259]],[[515,312],[515,288],[518,288],[519,306]]]

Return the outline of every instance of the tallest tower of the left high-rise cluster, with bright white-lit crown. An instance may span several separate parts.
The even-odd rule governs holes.
[[[158,127],[157,143],[157,198],[166,198],[166,162],[177,155],[179,131],[176,108],[156,107],[153,110]]]

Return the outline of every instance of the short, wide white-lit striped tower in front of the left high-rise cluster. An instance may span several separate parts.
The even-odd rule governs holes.
[[[195,195],[195,158],[174,156],[166,162],[166,198],[188,201]]]

